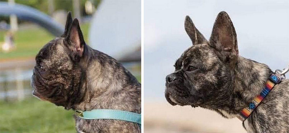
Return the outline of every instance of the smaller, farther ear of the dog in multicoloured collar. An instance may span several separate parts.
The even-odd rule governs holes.
[[[193,45],[208,43],[208,41],[205,39],[205,37],[195,27],[194,23],[192,22],[192,20],[189,16],[186,16],[185,30],[186,30],[187,34],[189,35],[190,39],[192,40]]]

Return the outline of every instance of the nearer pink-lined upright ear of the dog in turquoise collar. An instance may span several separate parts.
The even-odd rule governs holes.
[[[77,18],[73,20],[65,40],[69,43],[68,47],[73,51],[74,54],[79,57],[83,55],[84,45],[86,44]]]

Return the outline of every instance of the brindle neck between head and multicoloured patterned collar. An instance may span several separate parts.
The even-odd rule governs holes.
[[[271,69],[262,63],[253,60],[238,57],[238,61],[231,72],[231,107],[218,109],[223,116],[231,118],[235,117],[243,108],[249,105],[264,88],[266,81],[271,73]]]

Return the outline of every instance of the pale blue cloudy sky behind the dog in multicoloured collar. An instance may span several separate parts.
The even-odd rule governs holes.
[[[273,70],[289,65],[288,0],[144,0],[146,100],[165,100],[165,76],[174,71],[177,58],[192,45],[184,30],[185,16],[189,15],[209,39],[221,11],[233,21],[241,56],[268,64]]]

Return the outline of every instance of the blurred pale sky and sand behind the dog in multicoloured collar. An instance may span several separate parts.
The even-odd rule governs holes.
[[[272,70],[289,65],[288,0],[144,0],[145,132],[246,132],[237,118],[225,119],[202,108],[171,106],[164,97],[166,75],[192,45],[184,29],[185,16],[209,39],[221,11],[233,21],[241,56]]]

